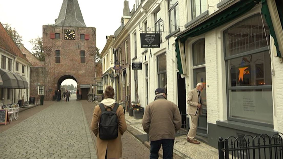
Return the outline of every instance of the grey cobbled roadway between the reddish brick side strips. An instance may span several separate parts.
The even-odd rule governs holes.
[[[79,101],[55,102],[0,133],[1,158],[97,158]]]

